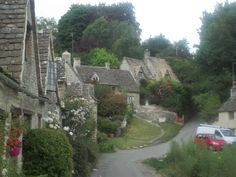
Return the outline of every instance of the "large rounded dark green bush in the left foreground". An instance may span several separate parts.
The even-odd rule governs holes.
[[[60,130],[30,130],[24,136],[23,157],[25,175],[71,176],[72,147]]]

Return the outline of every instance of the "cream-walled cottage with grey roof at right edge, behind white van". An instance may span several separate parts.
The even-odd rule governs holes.
[[[219,109],[215,124],[236,130],[236,81],[233,82],[230,98]]]

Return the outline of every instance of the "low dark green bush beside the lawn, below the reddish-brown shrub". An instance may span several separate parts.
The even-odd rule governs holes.
[[[116,135],[118,128],[119,124],[116,122],[112,122],[106,118],[98,119],[98,130],[102,133]]]

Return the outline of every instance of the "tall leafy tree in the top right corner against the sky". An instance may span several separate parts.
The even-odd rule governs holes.
[[[236,3],[220,4],[213,13],[205,12],[200,28],[198,62],[210,73],[229,71],[236,61]]]

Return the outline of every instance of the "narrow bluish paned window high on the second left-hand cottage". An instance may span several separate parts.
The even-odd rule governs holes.
[[[56,63],[49,60],[48,61],[48,73],[47,73],[47,90],[56,91],[57,82],[57,66]]]

